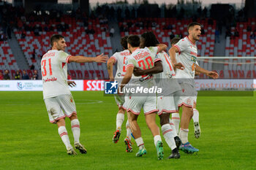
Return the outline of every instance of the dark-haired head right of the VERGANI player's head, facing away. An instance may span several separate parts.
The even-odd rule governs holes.
[[[146,31],[140,36],[140,47],[154,47],[159,44],[157,37],[152,31]]]

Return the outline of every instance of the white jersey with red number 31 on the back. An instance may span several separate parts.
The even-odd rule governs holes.
[[[42,89],[44,98],[71,94],[67,85],[68,53],[63,50],[49,50],[42,56]]]

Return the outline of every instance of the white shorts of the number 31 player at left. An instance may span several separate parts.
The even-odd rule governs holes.
[[[45,98],[45,106],[48,112],[50,123],[56,123],[64,117],[71,117],[76,112],[75,101],[72,95],[61,95],[52,98]]]

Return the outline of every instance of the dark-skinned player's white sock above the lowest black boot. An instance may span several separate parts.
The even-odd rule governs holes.
[[[168,144],[171,150],[174,150],[176,148],[176,143],[174,141],[173,134],[171,133],[173,129],[170,128],[170,124],[162,125],[162,134],[165,137],[165,142]]]

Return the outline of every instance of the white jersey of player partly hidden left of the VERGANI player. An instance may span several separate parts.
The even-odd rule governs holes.
[[[113,56],[110,57],[115,60],[115,63],[117,62],[115,80],[117,80],[118,82],[121,81],[121,79],[124,77],[125,72],[127,71],[125,61],[130,54],[131,53],[129,53],[129,50],[124,50],[121,52],[114,53]]]

